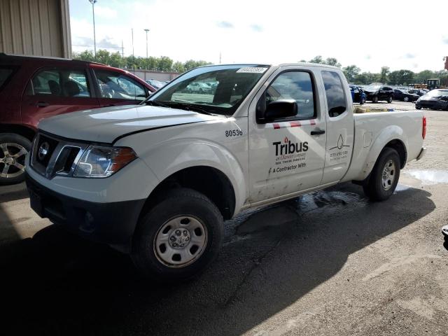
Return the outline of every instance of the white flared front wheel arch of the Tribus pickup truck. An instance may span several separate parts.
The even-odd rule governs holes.
[[[145,153],[141,160],[144,160],[160,181],[182,169],[213,167],[225,174],[232,183],[235,191],[235,213],[241,209],[246,199],[246,180],[240,162],[227,148],[213,141],[168,141]]]

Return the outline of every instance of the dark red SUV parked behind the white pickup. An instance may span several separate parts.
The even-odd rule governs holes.
[[[0,185],[25,178],[25,155],[39,120],[139,104],[154,91],[132,73],[104,64],[0,53]]]

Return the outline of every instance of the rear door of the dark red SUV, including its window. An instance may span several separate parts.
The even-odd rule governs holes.
[[[22,96],[22,123],[37,127],[50,116],[95,109],[99,101],[83,66],[49,66],[38,69]]]

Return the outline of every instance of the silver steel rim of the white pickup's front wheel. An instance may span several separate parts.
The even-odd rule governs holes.
[[[207,246],[207,227],[190,215],[165,222],[154,237],[154,254],[163,265],[180,268],[200,258]]]

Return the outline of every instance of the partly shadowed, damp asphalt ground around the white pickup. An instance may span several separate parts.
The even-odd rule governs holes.
[[[425,113],[426,157],[390,200],[344,183],[247,211],[214,265],[178,286],[38,218],[22,185],[0,187],[0,333],[448,335],[448,112]]]

